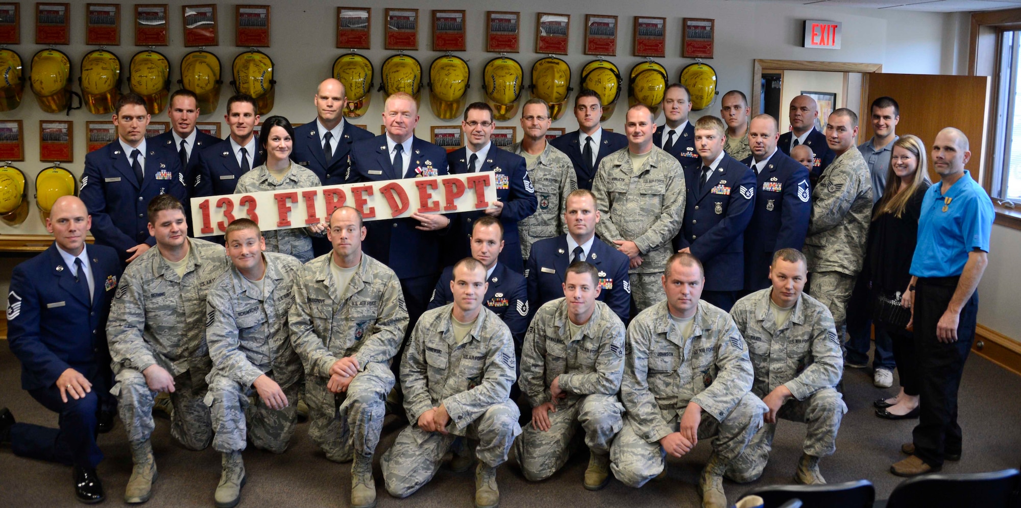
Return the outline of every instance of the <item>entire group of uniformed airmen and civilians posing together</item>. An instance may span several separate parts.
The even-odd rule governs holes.
[[[667,455],[711,440],[699,491],[725,507],[723,478],[762,474],[778,418],[807,423],[795,479],[825,481],[843,368],[862,352],[852,333],[845,360],[843,337],[864,280],[866,305],[874,293],[913,313],[914,334],[876,320],[904,386],[877,411],[921,418],[892,471],[960,456],[956,393],[992,221],[960,131],[936,137],[941,181],[927,187],[925,147],[893,135],[889,98],[872,104],[876,136],[861,149],[855,112],[834,111],[820,133],[807,96],[781,136],[739,91],[723,96],[723,118],[689,121],[674,84],[664,125],[639,104],[621,135],[583,90],[578,131],[551,141],[549,106],[532,99],[506,150],[490,141],[491,108],[473,103],[466,145],[448,154],[415,137],[414,97],[387,98],[378,137],[343,118],[344,97],[326,80],[313,121],[272,116],[257,140],[255,101],[232,97],[223,141],[197,132],[187,91],[171,98],[172,131],[148,140],[144,101],[121,97],[118,140],[87,156],[81,198],[54,204],[54,244],[14,269],[8,295],[22,388],[60,426],[3,409],[0,441],[72,465],[77,498],[99,502],[96,435],[116,411],[134,464],[125,501],[142,503],[158,477],[152,412],[168,394],[172,435],[222,454],[213,498],[232,507],[242,451],[283,453],[302,398],[311,440],[351,462],[352,507],[376,504],[388,414],[409,422],[380,460],[395,497],[452,452],[454,471],[477,463],[476,506],[495,507],[500,464],[547,478],[580,427],[589,490],[641,487]],[[238,218],[223,237],[188,236],[189,197],[477,171],[495,173],[498,200],[476,212],[363,221],[341,207],[300,228]]]

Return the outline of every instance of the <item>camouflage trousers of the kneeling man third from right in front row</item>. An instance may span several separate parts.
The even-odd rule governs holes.
[[[597,455],[610,453],[614,436],[624,424],[624,406],[614,395],[588,395],[571,405],[557,405],[550,411],[549,430],[540,430],[529,423],[515,441],[515,455],[522,472],[531,481],[552,476],[564,466],[570,455],[568,445],[578,423],[585,430],[585,444]]]

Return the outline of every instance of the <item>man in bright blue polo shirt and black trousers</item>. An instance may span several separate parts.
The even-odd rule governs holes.
[[[920,418],[910,455],[890,466],[898,476],[942,469],[961,459],[957,393],[975,338],[978,282],[985,271],[992,230],[992,201],[965,170],[968,138],[954,128],[936,135],[932,165],[940,182],[925,193],[911,284],[902,299],[913,308],[918,355]]]

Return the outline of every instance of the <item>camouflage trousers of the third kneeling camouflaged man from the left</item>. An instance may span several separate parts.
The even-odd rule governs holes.
[[[385,401],[393,389],[393,372],[384,363],[371,362],[343,394],[327,390],[328,380],[319,375],[305,377],[308,437],[334,462],[347,462],[354,453],[372,457],[383,431]],[[338,406],[341,399],[343,402]]]

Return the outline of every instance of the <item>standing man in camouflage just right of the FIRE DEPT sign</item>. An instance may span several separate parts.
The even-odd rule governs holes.
[[[526,116],[545,116],[546,119],[527,120]],[[532,244],[539,240],[553,238],[568,232],[564,223],[564,211],[568,203],[568,194],[578,189],[578,175],[574,163],[566,153],[553,148],[546,141],[549,130],[549,106],[546,101],[533,98],[522,106],[521,126],[531,143],[541,144],[542,153],[533,157],[525,151],[525,142],[515,143],[507,151],[525,157],[528,164],[528,179],[535,187],[535,198],[539,201],[535,213],[518,222],[518,234],[521,236],[521,257],[528,259],[532,252]]]

